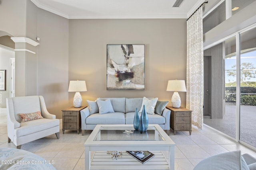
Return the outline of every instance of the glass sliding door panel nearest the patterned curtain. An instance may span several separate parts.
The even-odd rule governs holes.
[[[204,87],[204,112],[208,96],[208,103],[212,107],[210,114],[204,115],[204,123],[236,138],[236,38],[232,37],[204,50],[204,58],[206,57],[211,58],[211,83],[210,90]],[[204,64],[206,65],[206,60]],[[206,71],[205,68],[205,81],[209,75]]]

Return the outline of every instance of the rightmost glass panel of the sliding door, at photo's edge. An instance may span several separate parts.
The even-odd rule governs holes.
[[[256,28],[240,34],[240,142],[256,147]]]

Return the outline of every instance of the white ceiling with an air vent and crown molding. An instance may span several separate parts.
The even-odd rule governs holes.
[[[188,18],[205,0],[31,0],[68,19]]]

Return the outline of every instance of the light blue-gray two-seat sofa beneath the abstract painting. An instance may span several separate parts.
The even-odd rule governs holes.
[[[89,107],[80,111],[82,135],[85,130],[93,130],[97,124],[133,124],[136,108],[140,111],[143,98],[100,98],[110,100],[114,112],[100,114],[96,101],[87,101]],[[150,98],[152,99],[152,98]],[[108,101],[109,101],[108,100]],[[170,110],[165,106],[168,101],[157,101],[154,114],[148,115],[149,124],[158,124],[166,133],[170,134]],[[97,112],[98,111],[98,112]],[[141,113],[139,113],[141,115]]]

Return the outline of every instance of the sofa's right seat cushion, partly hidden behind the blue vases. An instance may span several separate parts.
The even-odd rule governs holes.
[[[133,124],[135,112],[125,113],[125,123],[126,124]],[[139,116],[141,113],[139,113]],[[165,118],[161,115],[155,114],[150,115],[148,114],[148,124],[164,124]]]

